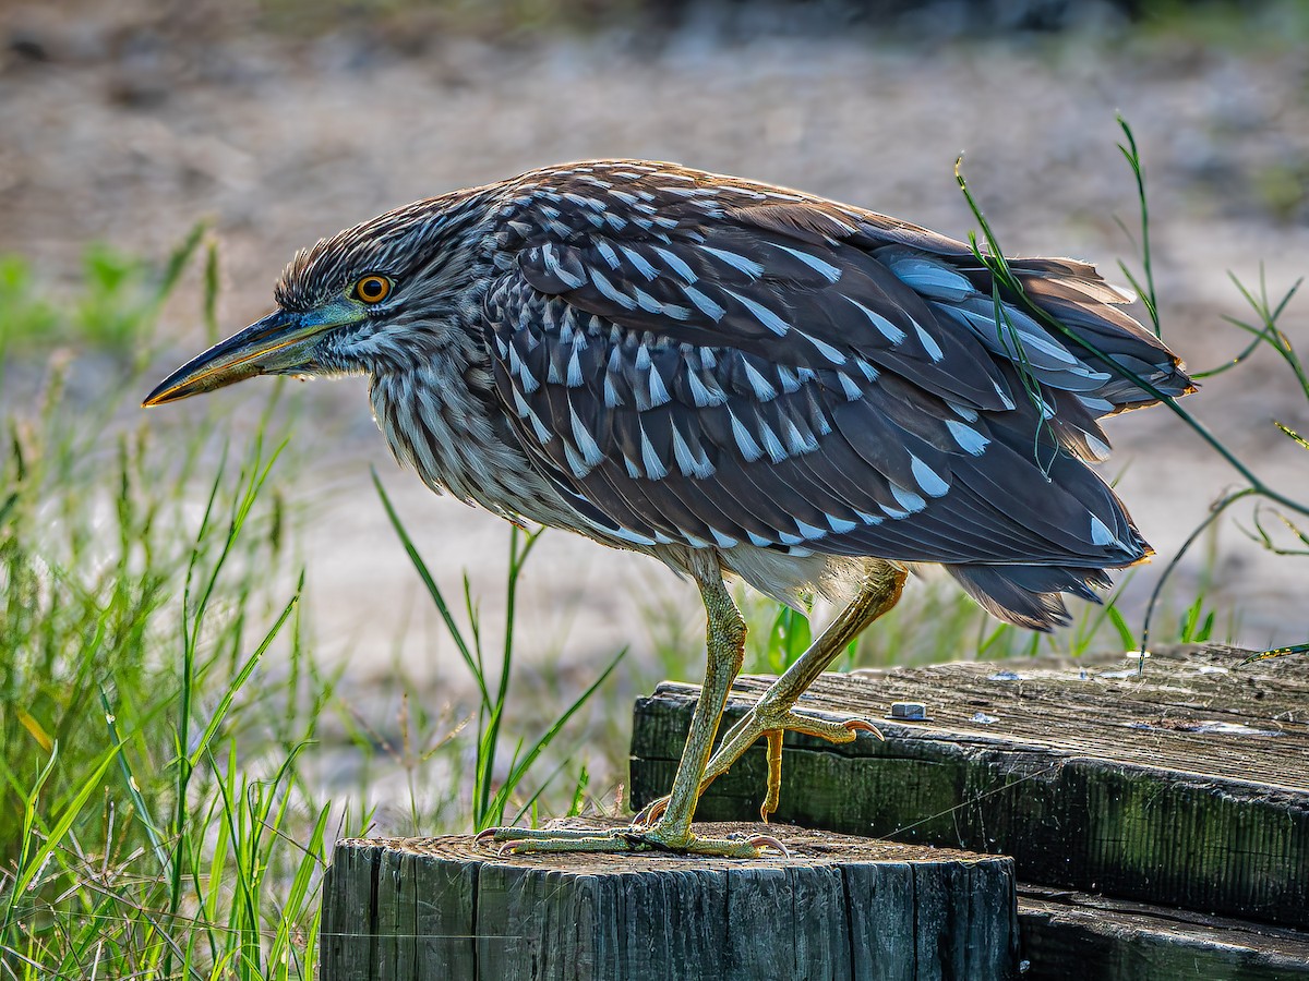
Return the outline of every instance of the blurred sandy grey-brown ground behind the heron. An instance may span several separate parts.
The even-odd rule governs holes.
[[[1262,264],[1276,293],[1309,271],[1309,27],[1296,4],[1174,5],[1162,21],[1134,20],[1140,4],[899,7],[0,3],[0,252],[72,283],[89,239],[160,256],[207,217],[221,241],[221,318],[236,330],[268,309],[296,247],[537,165],[673,160],[962,237],[973,220],[952,171],[963,150],[1008,251],[1113,269],[1134,252],[1117,220],[1136,222],[1115,146],[1122,111],[1148,169],[1165,339],[1192,368],[1244,347],[1223,320],[1249,314],[1229,269],[1254,284]],[[196,279],[161,327],[173,353],[153,374],[204,344]],[[1309,301],[1282,326],[1309,351]],[[211,398],[240,413],[262,383]],[[368,467],[452,591],[465,566],[487,589],[487,616],[504,526],[397,471],[363,379],[319,382],[306,398],[296,449],[308,463],[283,493],[310,505],[319,647],[385,670],[397,624],[416,610],[402,657],[420,674],[449,667]],[[1309,497],[1309,456],[1271,424],[1309,430],[1275,358],[1213,379],[1189,407]],[[124,421],[135,413],[123,405]],[[1131,413],[1110,433],[1107,472],[1166,557],[1236,475],[1166,411]],[[1212,604],[1240,608],[1238,638],[1309,638],[1309,560],[1271,559],[1230,521],[1219,545]],[[1134,582],[1130,610],[1156,574]],[[542,624],[529,647],[579,666],[626,642],[648,651],[649,606],[685,606],[689,620],[698,610],[661,566],[563,534],[543,540],[526,591],[524,623]]]

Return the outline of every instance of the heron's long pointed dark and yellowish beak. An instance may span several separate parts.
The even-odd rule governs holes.
[[[143,407],[188,399],[257,374],[285,374],[309,360],[313,339],[326,330],[348,323],[352,310],[336,305],[306,313],[275,310],[243,331],[215,344],[165,378]]]

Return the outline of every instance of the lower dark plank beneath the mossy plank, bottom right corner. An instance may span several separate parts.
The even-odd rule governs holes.
[[[1295,981],[1309,934],[1041,887],[1018,887],[1031,981]]]

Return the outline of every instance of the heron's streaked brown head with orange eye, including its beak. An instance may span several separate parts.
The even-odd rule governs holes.
[[[440,348],[459,331],[478,263],[470,232],[484,211],[473,204],[418,201],[302,249],[274,290],[276,310],[187,361],[141,404],[259,374],[401,369]]]

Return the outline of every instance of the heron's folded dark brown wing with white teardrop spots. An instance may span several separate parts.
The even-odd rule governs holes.
[[[977,269],[923,258],[948,239],[912,230],[925,252],[897,226],[869,249],[844,212],[764,200],[746,221],[717,184],[624,173],[524,188],[507,209],[516,251],[484,301],[520,439],[588,519],[647,544],[899,561],[1103,568],[1144,553],[1056,438],[1056,396],[1043,382],[1029,395],[969,317],[941,311],[979,293],[963,296]],[[959,296],[932,298],[946,290]],[[1068,378],[1050,391],[1105,381],[1039,340],[1030,370]],[[1076,425],[1092,432],[1093,409]]]

